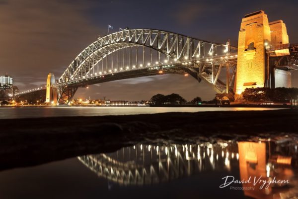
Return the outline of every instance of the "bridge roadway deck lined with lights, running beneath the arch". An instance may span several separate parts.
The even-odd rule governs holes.
[[[230,54],[229,56],[214,56],[210,58],[193,59],[184,62],[170,62],[169,64],[145,66],[144,68],[135,68],[131,70],[120,70],[117,72],[110,72],[104,75],[88,74],[75,80],[56,84],[55,87],[75,86],[75,87],[87,87],[88,85],[123,80],[129,78],[137,78],[152,75],[163,74],[190,74],[194,78],[201,81],[205,80],[207,83],[215,85],[218,88],[225,90],[225,85],[218,78],[221,73],[221,68],[230,64],[231,67],[235,67],[237,62],[237,55]],[[214,69],[212,69],[214,67]],[[234,69],[235,70],[235,69]],[[233,74],[235,71],[233,71]],[[221,91],[222,92],[222,91]]]

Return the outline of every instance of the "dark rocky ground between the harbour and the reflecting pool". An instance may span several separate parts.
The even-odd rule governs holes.
[[[298,133],[298,110],[208,111],[0,120],[0,170],[136,143],[243,140]]]

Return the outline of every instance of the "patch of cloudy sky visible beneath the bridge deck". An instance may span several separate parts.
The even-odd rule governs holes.
[[[155,94],[168,95],[179,93],[186,100],[192,100],[201,96],[203,100],[214,98],[215,91],[212,86],[205,82],[198,83],[197,80],[183,75],[158,75],[145,78],[120,80],[110,83],[89,86],[89,89],[79,89],[76,98],[110,100],[149,100]]]

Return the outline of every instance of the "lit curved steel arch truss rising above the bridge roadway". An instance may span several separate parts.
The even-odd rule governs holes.
[[[154,29],[127,29],[99,37],[85,48],[59,78],[58,85],[71,81],[76,76],[85,76],[95,63],[112,52],[128,46],[146,46],[169,58],[203,57],[205,53],[217,53],[217,47],[224,44],[200,40],[185,35]]]

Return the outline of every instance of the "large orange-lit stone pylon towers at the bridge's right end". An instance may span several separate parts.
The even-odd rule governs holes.
[[[246,14],[239,30],[236,94],[246,88],[290,88],[292,66],[278,66],[289,55],[289,36],[282,20],[269,23],[263,10]]]

